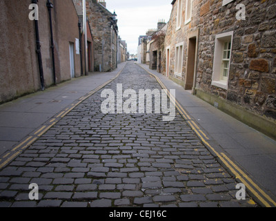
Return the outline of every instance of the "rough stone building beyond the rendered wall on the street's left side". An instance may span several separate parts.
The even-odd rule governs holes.
[[[103,72],[115,70],[118,48],[116,14],[106,9],[104,1],[87,0],[86,3],[87,18],[94,40],[95,70]]]

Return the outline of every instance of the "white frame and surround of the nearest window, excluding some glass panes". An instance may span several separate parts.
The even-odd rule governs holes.
[[[228,89],[228,79],[229,79],[229,70],[230,70],[230,61],[232,56],[232,47],[233,47],[233,31],[222,33],[219,35],[216,35],[215,38],[215,54],[214,54],[214,64],[213,64],[213,77],[212,77],[212,85],[217,86],[219,88]],[[221,68],[223,64],[223,52],[224,52],[224,43],[226,41],[230,41],[231,47],[230,47],[230,57],[229,59],[229,67],[228,67],[228,73],[227,77],[223,77]]]

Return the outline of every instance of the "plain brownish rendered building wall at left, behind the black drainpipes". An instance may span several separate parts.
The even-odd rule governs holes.
[[[81,75],[75,6],[72,0],[52,0],[54,75],[47,2],[38,1],[36,11],[29,9],[32,1],[0,1],[0,23],[4,30],[0,32],[0,103]],[[40,50],[37,50],[36,20],[29,19],[34,12],[38,12]],[[41,52],[41,62],[37,52]]]

